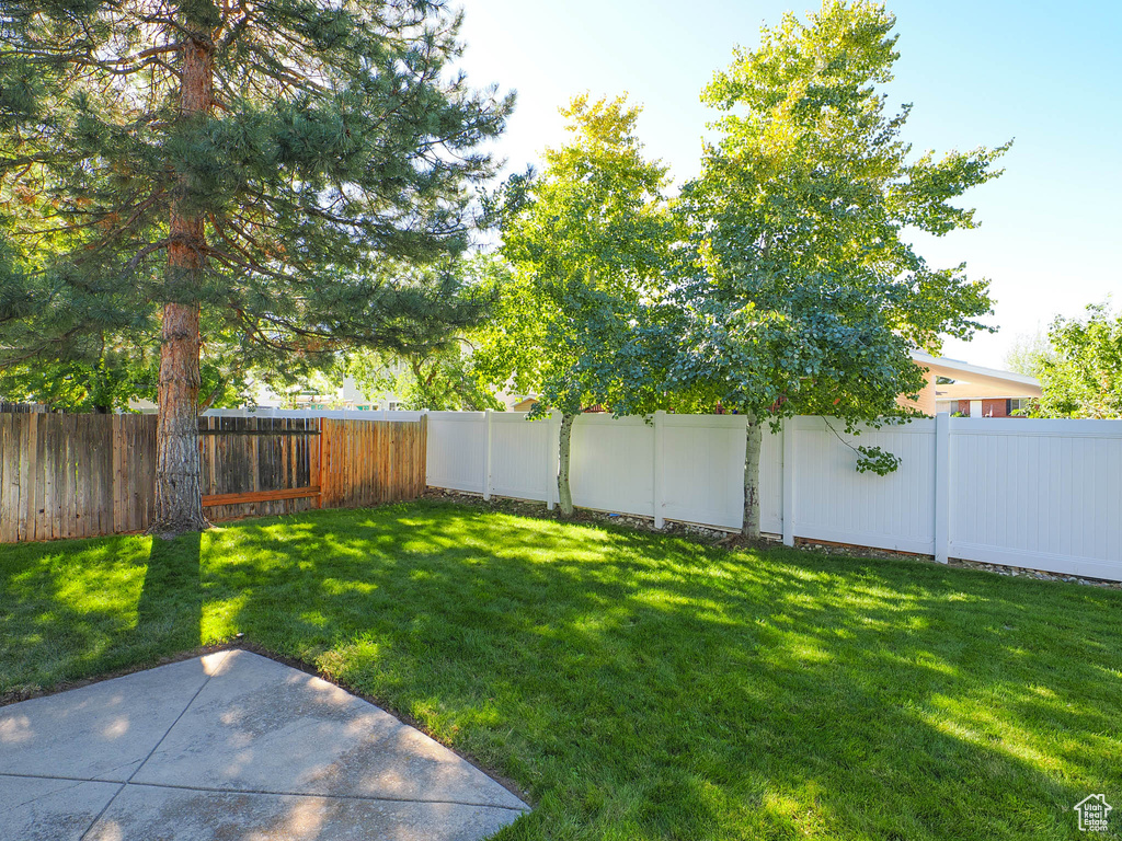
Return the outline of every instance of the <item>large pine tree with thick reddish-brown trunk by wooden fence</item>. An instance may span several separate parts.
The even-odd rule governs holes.
[[[205,524],[201,325],[307,361],[478,315],[432,267],[513,103],[452,71],[442,0],[17,0],[0,24],[0,357],[158,325],[155,532]]]

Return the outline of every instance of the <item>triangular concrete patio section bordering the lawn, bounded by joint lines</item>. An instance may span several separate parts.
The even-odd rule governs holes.
[[[134,778],[203,788],[522,808],[482,771],[338,686],[248,651]]]

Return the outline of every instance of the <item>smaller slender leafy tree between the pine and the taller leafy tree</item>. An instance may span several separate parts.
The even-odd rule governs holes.
[[[672,225],[666,169],[643,157],[640,109],[623,98],[577,96],[562,113],[571,141],[545,151],[542,175],[499,209],[503,244],[491,267],[495,316],[477,370],[495,388],[535,392],[535,414],[562,413],[561,507],[571,511],[568,442],[576,415],[654,407],[662,383],[636,334],[663,296]]]

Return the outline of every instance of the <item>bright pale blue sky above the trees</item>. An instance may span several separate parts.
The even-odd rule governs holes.
[[[574,93],[627,92],[644,105],[641,136],[682,182],[697,174],[712,114],[699,102],[733,47],[804,0],[461,0],[476,85],[518,93],[499,144],[511,169],[564,139],[557,112]],[[966,261],[992,281],[995,335],[948,341],[944,353],[1001,367],[1020,334],[1046,330],[1114,293],[1122,305],[1122,3],[1115,0],[898,0],[896,78],[914,104],[917,150],[1015,138],[1005,175],[967,195],[981,228],[918,241],[937,266]]]

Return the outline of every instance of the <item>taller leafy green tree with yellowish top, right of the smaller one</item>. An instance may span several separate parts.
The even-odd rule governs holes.
[[[746,532],[758,533],[758,425],[793,414],[852,425],[896,414],[923,385],[916,348],[967,336],[990,312],[986,283],[934,268],[909,229],[973,228],[954,201],[1000,174],[996,149],[918,156],[881,86],[895,20],[827,0],[738,49],[702,100],[723,112],[679,210],[692,231],[678,286],[686,323],[674,385],[748,416]]]

